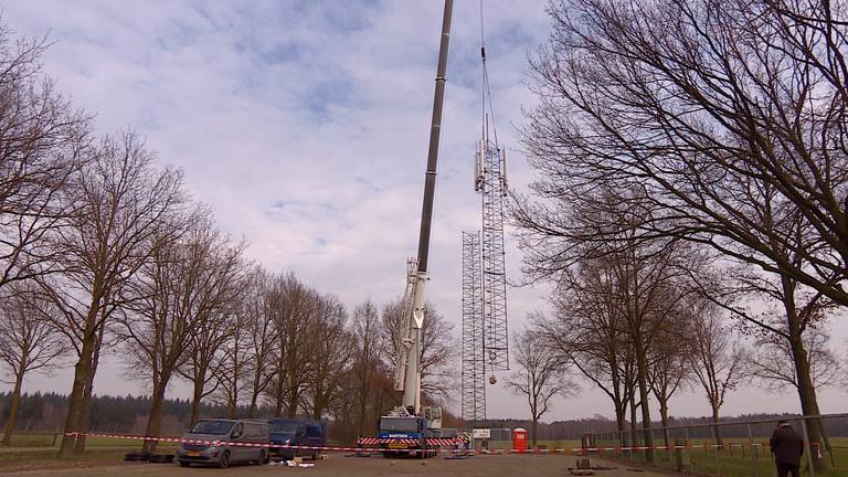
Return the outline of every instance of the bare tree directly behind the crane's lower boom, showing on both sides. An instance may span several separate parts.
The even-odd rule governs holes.
[[[401,347],[401,326],[403,299],[385,304],[381,312],[380,352],[384,364],[394,369],[398,364]],[[433,306],[424,309],[424,329],[421,346],[421,390],[432,399],[449,402],[457,388],[455,372],[459,346],[454,336],[454,325],[442,316]]]

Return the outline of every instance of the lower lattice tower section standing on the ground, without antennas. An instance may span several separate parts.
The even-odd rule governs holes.
[[[486,418],[480,232],[463,232],[463,420]]]

